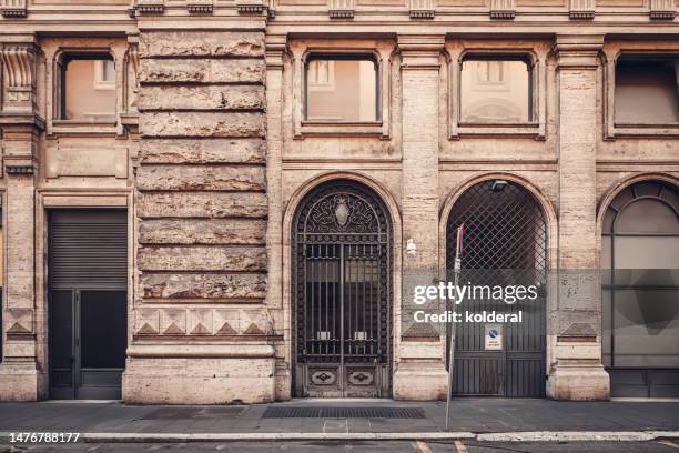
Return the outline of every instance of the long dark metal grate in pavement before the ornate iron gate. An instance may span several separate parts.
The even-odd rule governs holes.
[[[420,407],[267,407],[262,419],[425,419]]]

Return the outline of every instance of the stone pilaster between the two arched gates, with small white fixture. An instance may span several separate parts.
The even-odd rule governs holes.
[[[394,397],[446,394],[445,344],[437,326],[414,324],[415,285],[438,276],[438,111],[445,36],[399,36],[403,102],[403,306]],[[407,244],[407,245],[406,245]]]

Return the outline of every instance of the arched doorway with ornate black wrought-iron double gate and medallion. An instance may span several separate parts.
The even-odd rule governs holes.
[[[296,396],[391,395],[393,229],[369,188],[341,179],[293,219]]]

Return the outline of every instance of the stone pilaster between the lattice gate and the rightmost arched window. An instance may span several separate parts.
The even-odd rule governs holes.
[[[557,36],[559,234],[556,313],[547,393],[557,400],[605,400],[596,225],[598,87],[602,36]]]

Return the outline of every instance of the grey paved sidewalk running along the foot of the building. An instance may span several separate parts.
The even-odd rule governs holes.
[[[395,410],[385,413],[383,410]],[[267,411],[268,410],[268,411]],[[287,411],[294,410],[294,411]],[[382,412],[381,412],[382,411]],[[286,412],[288,412],[286,414]],[[292,415],[287,417],[286,415]],[[399,416],[399,417],[394,417]],[[391,400],[294,400],[240,406],[126,405],[118,402],[0,403],[0,432],[79,432],[90,440],[125,437],[254,439],[510,439],[517,433],[629,433],[676,436],[679,402],[556,402],[457,399],[444,433],[445,403]],[[658,433],[660,432],[660,433]],[[673,432],[673,433],[672,433]],[[417,434],[419,433],[419,434]],[[652,433],[652,434],[648,434]],[[556,434],[555,434],[556,435]],[[639,434],[640,435],[640,434]],[[287,437],[286,437],[287,436]]]

